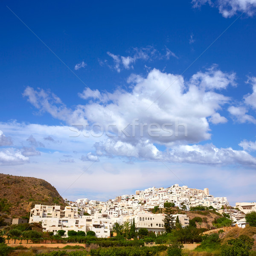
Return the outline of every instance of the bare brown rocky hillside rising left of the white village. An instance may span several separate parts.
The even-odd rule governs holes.
[[[0,212],[21,217],[35,204],[65,205],[55,187],[45,180],[0,174]]]

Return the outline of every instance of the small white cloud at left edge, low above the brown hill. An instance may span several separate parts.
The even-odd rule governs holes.
[[[0,165],[20,165],[29,162],[29,157],[24,156],[20,150],[6,148],[0,151]]]

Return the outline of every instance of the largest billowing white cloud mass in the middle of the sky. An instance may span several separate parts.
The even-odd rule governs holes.
[[[94,98],[84,90],[79,96],[91,98],[90,102],[76,106],[75,111],[63,105],[62,109],[67,123],[83,120],[88,126],[102,125],[104,130],[99,137],[93,137],[98,140],[94,144],[96,153],[82,155],[82,161],[99,161],[98,156],[104,153],[107,157],[152,161],[254,165],[255,159],[246,151],[196,145],[211,138],[210,123],[227,122],[218,111],[230,102],[230,98],[216,90],[236,85],[235,78],[234,73],[224,73],[216,66],[196,73],[187,82],[182,76],[154,69],[146,77],[131,76],[129,91],[100,93],[95,90],[97,97]],[[32,104],[39,106],[39,111],[47,111],[61,119],[62,114],[54,111],[58,104],[52,102],[46,108],[39,94],[41,90],[33,93],[37,100]],[[103,95],[107,97],[104,104],[97,100]],[[52,99],[50,92],[44,100],[49,101],[48,98]],[[76,111],[79,116],[74,116]],[[234,108],[229,111],[239,113]],[[240,116],[244,116],[244,112],[241,111]],[[164,145],[166,151],[157,148],[158,144]]]

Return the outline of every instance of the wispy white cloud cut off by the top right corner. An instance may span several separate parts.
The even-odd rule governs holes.
[[[221,15],[225,18],[232,17],[239,12],[245,12],[248,16],[255,14],[255,0],[192,0],[193,6],[198,8],[206,3],[218,8]]]

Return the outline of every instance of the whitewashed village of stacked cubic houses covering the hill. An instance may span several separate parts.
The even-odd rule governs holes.
[[[41,222],[43,230],[48,232],[57,233],[58,230],[64,230],[64,236],[67,236],[68,230],[91,230],[97,237],[107,238],[111,235],[114,223],[123,224],[125,221],[134,221],[136,230],[147,228],[148,231],[160,234],[165,231],[164,214],[155,212],[166,205],[183,210],[182,213],[173,215],[183,227],[189,225],[189,217],[184,211],[189,211],[192,207],[221,209],[229,205],[226,197],[209,195],[207,188],[191,189],[178,184],[166,189],[152,187],[137,190],[134,195],[117,196],[106,202],[82,198],[76,202],[66,199],[66,203],[69,206],[64,210],[58,205],[36,204],[31,209],[29,222]],[[233,212],[233,215],[235,214],[236,212]],[[237,217],[241,219],[244,216]]]

